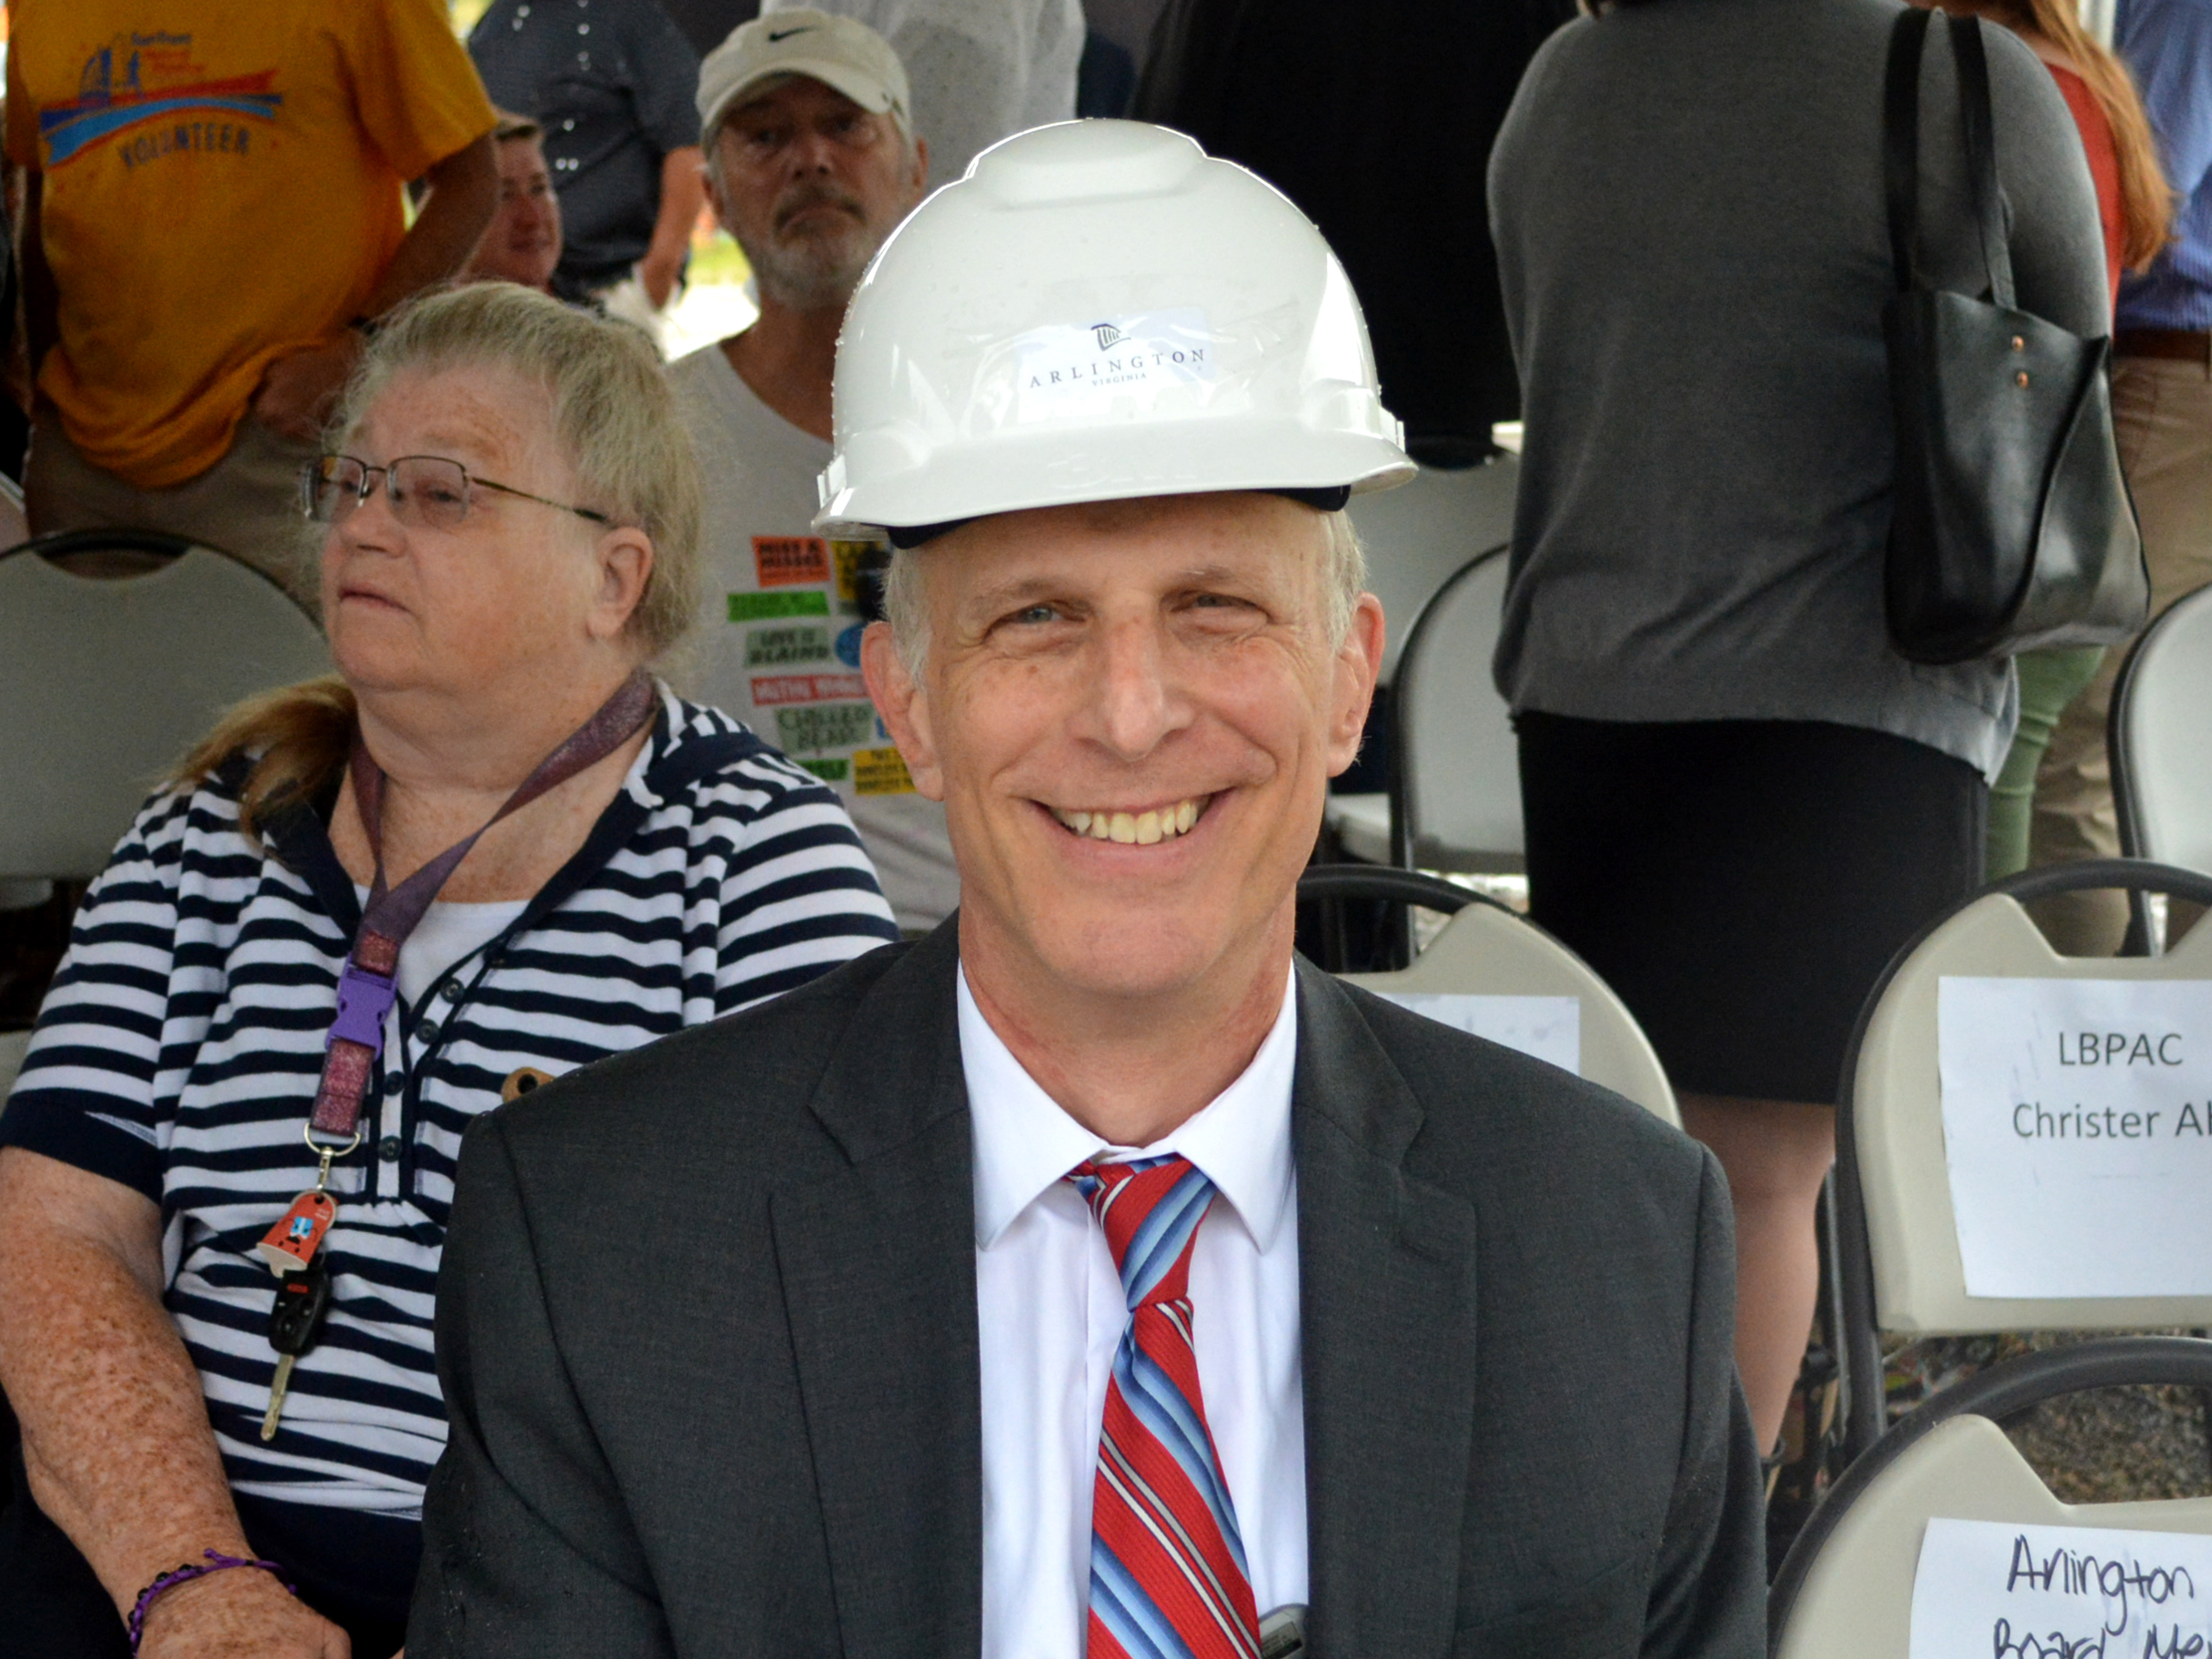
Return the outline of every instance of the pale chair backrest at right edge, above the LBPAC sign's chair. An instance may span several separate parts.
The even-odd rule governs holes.
[[[2168,606],[2128,653],[2110,743],[2121,849],[2212,872],[2212,588]]]

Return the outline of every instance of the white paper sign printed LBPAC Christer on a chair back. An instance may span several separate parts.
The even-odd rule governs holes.
[[[2212,982],[1947,975],[1936,1018],[1966,1292],[2212,1294]]]

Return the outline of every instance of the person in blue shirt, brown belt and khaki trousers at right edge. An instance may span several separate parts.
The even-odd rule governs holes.
[[[2112,44],[2143,93],[2177,201],[2172,241],[2121,281],[2112,330],[2112,425],[2157,615],[2212,582],[2212,0],[2119,0]],[[2037,865],[2119,854],[2104,732],[2126,655],[2106,653],[2051,739],[2035,779]],[[2062,951],[2110,956],[2128,918],[2119,894],[2068,894],[2042,920]]]

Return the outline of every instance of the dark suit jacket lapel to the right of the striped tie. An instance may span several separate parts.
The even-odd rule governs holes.
[[[1451,1648],[1475,1409],[1475,1212],[1407,1177],[1422,1113],[1298,962],[1298,1283],[1314,1652]]]

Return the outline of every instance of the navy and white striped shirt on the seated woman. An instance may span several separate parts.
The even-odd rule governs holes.
[[[263,1444],[276,1283],[250,1252],[314,1183],[301,1130],[361,911],[314,812],[270,823],[265,852],[239,834],[243,776],[139,812],[77,914],[0,1144],[161,1206],[168,1312],[237,1491],[416,1517],[445,1447],[431,1301],[469,1121],[522,1068],[706,1024],[898,931],[836,796],[664,690],[584,849],[400,1004],[365,1141],[330,1181],[332,1312]]]

